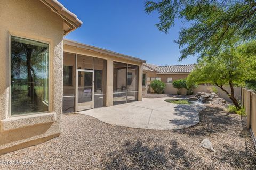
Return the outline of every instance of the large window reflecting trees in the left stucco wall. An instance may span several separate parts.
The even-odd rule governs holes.
[[[49,45],[11,37],[11,115],[48,111]]]

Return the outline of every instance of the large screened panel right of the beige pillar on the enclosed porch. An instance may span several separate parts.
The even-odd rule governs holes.
[[[139,67],[114,62],[113,105],[138,100]]]

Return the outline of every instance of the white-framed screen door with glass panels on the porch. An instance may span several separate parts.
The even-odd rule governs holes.
[[[93,108],[94,71],[76,70],[76,111]]]

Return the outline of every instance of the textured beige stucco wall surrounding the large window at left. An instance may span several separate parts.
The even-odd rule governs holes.
[[[0,1],[0,154],[35,145],[62,131],[63,20],[40,1]],[[50,113],[9,117],[10,34],[45,41],[49,49]]]

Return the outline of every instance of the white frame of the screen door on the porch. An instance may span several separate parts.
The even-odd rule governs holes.
[[[76,69],[76,103],[75,103],[75,112],[78,112],[78,72],[91,72],[92,73],[92,86],[83,86],[83,88],[90,87],[92,88],[92,107],[88,109],[93,109],[94,108],[94,70],[86,70],[86,69]],[[87,109],[83,109],[87,110]],[[79,110],[79,111],[83,111]]]

